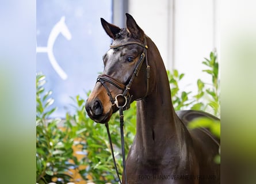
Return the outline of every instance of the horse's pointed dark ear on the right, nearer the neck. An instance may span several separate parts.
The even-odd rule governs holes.
[[[143,41],[144,31],[137,25],[136,21],[130,14],[125,13],[125,15],[127,17],[126,26],[127,26],[127,29],[129,30],[129,32],[136,39]]]

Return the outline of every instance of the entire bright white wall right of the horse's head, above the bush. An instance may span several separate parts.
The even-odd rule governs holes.
[[[165,66],[185,73],[182,90],[196,91],[204,57],[219,51],[217,0],[129,0],[129,13],[158,47]]]

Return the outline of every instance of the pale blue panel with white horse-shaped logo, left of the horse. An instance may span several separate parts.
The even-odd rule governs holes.
[[[46,76],[45,90],[53,91],[58,110],[52,117],[65,117],[75,110],[70,97],[86,98],[103,69],[110,39],[100,17],[111,22],[112,0],[37,1],[36,6],[36,71]]]

